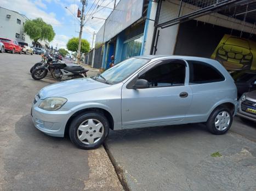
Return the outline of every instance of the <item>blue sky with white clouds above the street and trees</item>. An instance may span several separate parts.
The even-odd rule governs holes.
[[[105,22],[101,19],[92,19],[92,16],[106,19],[112,10],[103,7],[113,8],[113,4],[114,0],[87,0],[84,13],[86,24],[83,27],[82,38],[87,39],[91,46],[93,32],[98,32]],[[98,5],[103,7],[98,7]],[[73,14],[77,15],[78,8],[82,11],[80,0],[1,0],[0,7],[18,11],[29,19],[41,17],[44,22],[53,26],[56,35],[50,45],[56,47],[58,44],[58,49],[66,49],[67,41],[79,35],[79,18]]]

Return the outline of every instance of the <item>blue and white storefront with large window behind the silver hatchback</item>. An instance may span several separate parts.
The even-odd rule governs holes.
[[[147,34],[149,23],[153,23],[149,20],[151,4],[152,1],[140,0],[121,0],[117,4],[96,33],[95,49],[104,47],[103,55],[99,55],[102,56],[101,68],[109,68],[111,56],[115,56],[115,64],[118,64],[150,50],[152,38],[147,38]],[[94,63],[96,59],[99,57],[95,52]]]

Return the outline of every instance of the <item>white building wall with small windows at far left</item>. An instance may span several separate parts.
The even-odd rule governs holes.
[[[7,18],[7,15],[11,15]],[[20,25],[17,23],[17,19],[21,21]],[[26,17],[16,13],[15,11],[4,9],[0,7],[0,38],[7,38],[16,41],[26,42],[32,44],[32,40],[23,32],[23,23],[26,21]],[[16,33],[20,34],[20,38],[17,39]],[[25,38],[25,40],[22,39]]]

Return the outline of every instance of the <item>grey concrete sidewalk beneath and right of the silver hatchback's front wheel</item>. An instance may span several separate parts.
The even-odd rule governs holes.
[[[212,135],[202,124],[111,131],[106,147],[130,190],[256,190],[256,143],[232,132]]]

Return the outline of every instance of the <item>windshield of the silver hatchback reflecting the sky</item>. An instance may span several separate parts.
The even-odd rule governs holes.
[[[145,58],[129,58],[119,64],[115,65],[114,67],[106,70],[104,73],[98,76],[92,77],[92,79],[109,83],[109,84],[116,84],[127,77],[132,75],[136,70],[143,67],[149,59]]]

